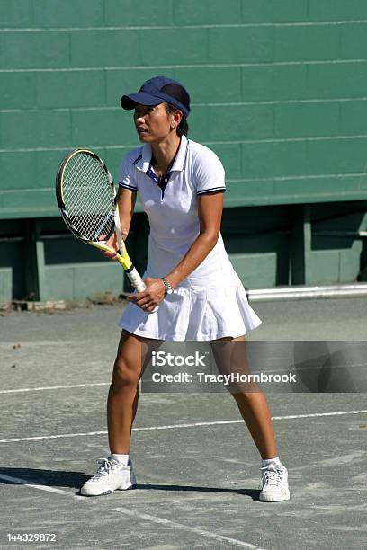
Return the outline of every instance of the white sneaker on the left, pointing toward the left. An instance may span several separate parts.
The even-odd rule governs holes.
[[[97,462],[101,466],[97,473],[81,487],[80,494],[100,496],[101,494],[110,494],[116,489],[124,491],[136,486],[137,480],[132,469],[131,459],[128,466],[111,458],[102,458]]]

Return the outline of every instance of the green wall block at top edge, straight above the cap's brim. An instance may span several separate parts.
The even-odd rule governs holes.
[[[169,25],[173,22],[173,0],[105,0],[105,22],[112,27]],[[152,5],[154,6],[152,9]]]

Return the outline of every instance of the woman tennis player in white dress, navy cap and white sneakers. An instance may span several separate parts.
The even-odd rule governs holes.
[[[130,296],[121,317],[121,341],[107,403],[111,455],[103,458],[97,473],[81,488],[86,496],[136,484],[130,432],[148,342],[245,345],[245,334],[261,324],[220,235],[226,191],[223,166],[209,148],[186,137],[189,94],[174,80],[157,76],[138,93],[123,95],[121,106],[134,110],[143,144],[121,163],[121,229],[126,238],[139,192],[150,224],[147,288]],[[108,244],[118,250],[114,236]],[[157,312],[152,313],[156,306]],[[260,500],[288,500],[288,473],[278,457],[264,394],[259,390],[233,391],[232,395],[262,457]]]

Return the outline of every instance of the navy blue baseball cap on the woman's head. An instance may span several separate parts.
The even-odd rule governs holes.
[[[130,111],[139,105],[153,107],[159,103],[171,103],[177,109],[183,111],[185,117],[190,112],[190,95],[183,88],[183,85],[166,76],[155,76],[145,82],[138,93],[122,95],[121,107]]]

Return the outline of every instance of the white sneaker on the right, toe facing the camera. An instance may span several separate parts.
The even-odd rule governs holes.
[[[288,488],[288,471],[285,466],[271,462],[262,471],[260,481],[260,501],[280,502],[290,500],[290,490]]]

